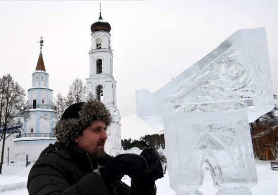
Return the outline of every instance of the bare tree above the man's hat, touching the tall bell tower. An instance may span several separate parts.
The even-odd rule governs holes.
[[[69,86],[66,104],[67,106],[74,103],[82,102],[86,99],[86,86],[78,77]]]

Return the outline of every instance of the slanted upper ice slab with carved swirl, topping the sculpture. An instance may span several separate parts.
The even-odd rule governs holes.
[[[162,129],[169,113],[246,110],[249,123],[274,107],[265,28],[236,31],[167,85],[136,91],[137,115]]]

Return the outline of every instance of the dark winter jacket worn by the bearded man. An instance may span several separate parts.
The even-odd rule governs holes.
[[[96,162],[77,146],[50,144],[29,173],[29,195],[127,195],[129,186],[125,183],[119,181],[112,192],[98,174],[92,173],[111,158],[106,154]]]

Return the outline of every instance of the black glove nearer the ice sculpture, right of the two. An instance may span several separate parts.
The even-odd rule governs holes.
[[[155,181],[163,177],[163,168],[156,149],[145,148],[140,155],[146,159],[150,171],[142,179],[131,179],[129,195],[152,194],[156,190]]]

